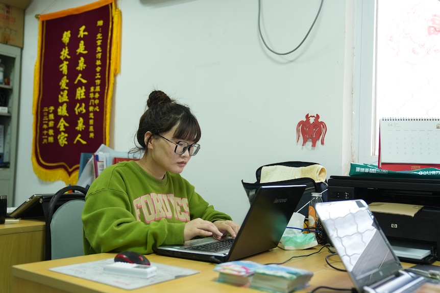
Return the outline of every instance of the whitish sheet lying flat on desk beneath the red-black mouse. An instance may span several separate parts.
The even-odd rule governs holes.
[[[128,277],[126,275],[104,273],[104,266],[113,262],[114,259],[109,258],[91,262],[70,264],[63,267],[52,268],[49,270],[126,290],[132,290],[200,273],[200,271],[174,267],[173,265],[156,262],[152,262],[151,265],[157,267],[157,275],[146,279],[139,277]]]

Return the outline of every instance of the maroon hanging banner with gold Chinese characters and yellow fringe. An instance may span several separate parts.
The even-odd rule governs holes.
[[[75,184],[81,153],[108,145],[120,11],[101,0],[39,20],[32,166],[42,180]]]

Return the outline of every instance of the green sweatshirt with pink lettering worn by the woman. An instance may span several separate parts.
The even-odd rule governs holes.
[[[109,166],[93,181],[81,218],[85,254],[149,254],[160,245],[183,244],[183,229],[190,220],[231,220],[180,174],[166,172],[157,180],[135,161]]]

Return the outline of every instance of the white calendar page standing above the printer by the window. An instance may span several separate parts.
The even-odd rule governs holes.
[[[383,118],[380,163],[440,164],[440,118]]]

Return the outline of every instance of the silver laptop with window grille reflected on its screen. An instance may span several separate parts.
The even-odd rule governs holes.
[[[365,201],[322,202],[315,209],[358,292],[414,292],[437,283],[403,270]]]

